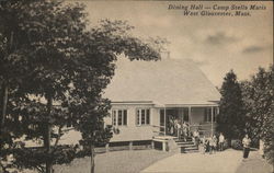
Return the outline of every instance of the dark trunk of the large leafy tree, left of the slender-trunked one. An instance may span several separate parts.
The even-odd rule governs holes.
[[[50,155],[52,149],[50,149],[50,132],[52,132],[52,125],[50,125],[50,113],[52,113],[52,106],[53,106],[53,97],[49,96],[47,99],[47,116],[48,116],[48,122],[46,124],[46,131],[44,136],[44,147],[47,150],[47,154]],[[46,173],[53,173],[53,161],[50,159],[47,159],[46,161]]]

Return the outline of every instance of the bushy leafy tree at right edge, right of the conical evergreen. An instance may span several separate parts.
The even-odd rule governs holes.
[[[250,81],[242,84],[247,109],[247,126],[253,139],[264,141],[264,155],[274,166],[274,66],[259,68]]]

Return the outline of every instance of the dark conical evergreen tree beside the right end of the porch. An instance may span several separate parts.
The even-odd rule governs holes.
[[[240,84],[232,70],[226,74],[220,94],[220,112],[217,118],[217,130],[224,132],[229,140],[239,139],[244,134],[246,114]]]

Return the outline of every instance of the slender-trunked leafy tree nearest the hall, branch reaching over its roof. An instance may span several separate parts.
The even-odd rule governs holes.
[[[82,132],[81,143],[89,147],[91,155],[94,155],[94,146],[106,143],[110,139],[110,128],[105,128],[103,122],[103,117],[109,115],[110,101],[102,99],[101,94],[114,76],[114,62],[118,55],[124,54],[130,60],[157,60],[160,57],[160,45],[164,43],[164,41],[157,39],[152,44],[156,45],[156,47],[153,46],[156,49],[150,47],[149,44],[127,35],[133,27],[122,21],[104,20],[101,21],[101,26],[93,30],[89,37],[84,37],[79,43],[87,43],[87,46],[81,48],[84,51],[82,55],[91,56],[83,57],[85,60],[79,62],[80,69],[72,81],[73,88],[69,94],[72,96],[72,102],[81,104],[71,106],[71,102],[68,103],[71,114],[77,116],[75,119],[80,119],[76,122],[76,127]],[[91,38],[92,41],[90,41]],[[100,65],[99,62],[102,60],[103,62]],[[96,73],[94,74],[94,72]],[[93,172],[93,159],[91,163],[91,172]]]

